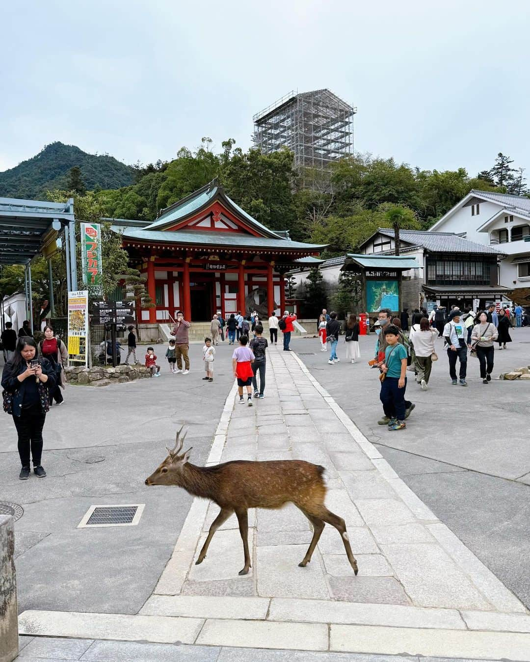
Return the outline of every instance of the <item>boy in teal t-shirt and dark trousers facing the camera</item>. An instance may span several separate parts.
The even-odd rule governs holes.
[[[390,418],[388,430],[405,428],[405,389],[407,386],[407,350],[399,342],[397,326],[390,324],[384,331],[387,348],[380,368],[384,374],[379,399],[385,416]]]

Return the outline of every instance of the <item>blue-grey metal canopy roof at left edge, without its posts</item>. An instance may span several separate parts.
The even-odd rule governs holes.
[[[73,220],[72,198],[66,203],[0,198],[0,265],[30,263],[52,232]]]

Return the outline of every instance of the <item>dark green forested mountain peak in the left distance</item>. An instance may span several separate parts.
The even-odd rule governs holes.
[[[87,189],[119,189],[133,181],[130,166],[113,156],[87,154],[75,145],[52,142],[33,158],[0,172],[0,197],[39,199],[51,189],[66,189],[68,171],[81,168]]]

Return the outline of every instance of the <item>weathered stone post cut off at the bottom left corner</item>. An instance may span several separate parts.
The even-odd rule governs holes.
[[[15,528],[11,515],[0,515],[0,662],[19,654]]]

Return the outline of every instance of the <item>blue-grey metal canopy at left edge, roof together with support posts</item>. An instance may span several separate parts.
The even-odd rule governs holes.
[[[31,261],[63,233],[67,256],[66,273],[68,289],[77,289],[75,266],[75,230],[73,198],[66,203],[50,203],[42,200],[0,198],[0,269],[4,265],[20,264],[25,269],[26,304],[28,319],[32,322]],[[50,305],[54,307],[51,263]],[[2,316],[3,320],[3,316]]]

